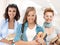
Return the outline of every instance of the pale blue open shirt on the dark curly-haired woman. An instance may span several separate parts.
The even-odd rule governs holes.
[[[17,26],[18,26],[18,22],[15,20],[14,22],[14,33],[16,33],[16,29],[17,29]],[[3,38],[6,38],[7,35],[8,35],[8,19],[7,20],[2,20],[2,23],[0,25],[0,40],[2,40]],[[9,31],[10,32],[10,31]],[[12,32],[12,31],[11,31]],[[6,43],[4,42],[0,42],[0,45],[7,45]]]

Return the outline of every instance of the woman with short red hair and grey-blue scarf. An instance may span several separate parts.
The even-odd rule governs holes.
[[[43,27],[45,33],[47,34],[46,37],[47,45],[54,45],[55,41],[58,39],[56,29],[52,24],[53,17],[54,17],[54,11],[51,8],[46,8],[44,10],[45,22],[43,24]]]

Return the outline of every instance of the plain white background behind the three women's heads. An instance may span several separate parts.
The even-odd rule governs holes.
[[[3,14],[5,8],[9,4],[17,4],[21,17],[18,21],[22,23],[25,10],[28,6],[33,6],[36,8],[37,11],[37,23],[42,26],[44,19],[43,19],[43,10],[46,7],[51,7],[55,11],[55,16],[53,20],[53,24],[59,27],[60,25],[60,0],[0,0],[0,22],[3,20]]]

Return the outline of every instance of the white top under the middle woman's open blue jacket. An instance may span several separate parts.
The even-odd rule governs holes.
[[[29,27],[27,27],[26,35],[27,35],[27,40],[32,41],[36,35],[36,25],[33,29],[30,29]]]

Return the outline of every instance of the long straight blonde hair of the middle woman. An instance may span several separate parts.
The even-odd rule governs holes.
[[[28,8],[27,8],[26,13],[25,13],[25,16],[24,16],[24,19],[23,19],[22,33],[23,33],[23,31],[24,31],[24,24],[27,22],[27,15],[28,15],[28,13],[29,13],[30,11],[35,11],[35,12],[36,12],[36,10],[35,10],[34,7],[28,7]],[[35,24],[36,24],[36,20],[37,20],[37,16],[36,16],[35,21],[34,21]]]

